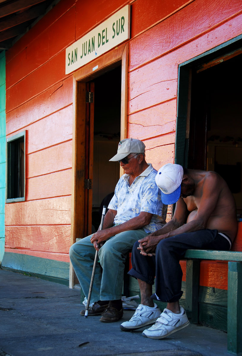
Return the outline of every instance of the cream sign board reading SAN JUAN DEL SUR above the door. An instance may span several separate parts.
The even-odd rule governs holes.
[[[66,48],[65,74],[84,66],[129,38],[130,5],[126,5]]]

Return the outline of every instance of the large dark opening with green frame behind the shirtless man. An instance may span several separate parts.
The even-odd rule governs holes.
[[[215,171],[226,180],[240,218],[241,44],[235,39],[226,44],[227,51],[223,44],[179,65],[175,143],[175,163]]]

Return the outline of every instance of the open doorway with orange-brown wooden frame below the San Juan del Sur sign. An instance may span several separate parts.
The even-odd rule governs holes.
[[[112,172],[115,165],[119,167],[109,159],[116,154],[120,139],[127,137],[128,44],[79,68],[73,79],[71,245],[91,234],[96,205],[102,195],[114,191],[119,179],[120,168],[111,173],[103,162]],[[105,145],[112,146],[108,153]],[[69,287],[73,288],[75,282],[70,263]]]

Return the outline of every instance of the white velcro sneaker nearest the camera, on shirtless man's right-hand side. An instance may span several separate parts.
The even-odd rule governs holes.
[[[172,313],[169,309],[164,309],[156,323],[151,328],[144,330],[142,335],[150,339],[163,339],[188,325],[189,320],[183,307],[180,307],[179,314]]]

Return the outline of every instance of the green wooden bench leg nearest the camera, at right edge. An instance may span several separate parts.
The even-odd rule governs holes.
[[[242,352],[242,262],[228,262],[228,352]]]

